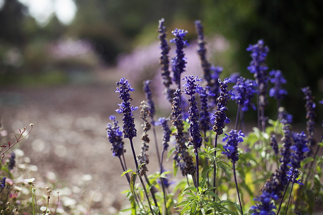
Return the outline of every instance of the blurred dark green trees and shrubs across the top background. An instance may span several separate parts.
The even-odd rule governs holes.
[[[282,70],[288,80],[289,95],[283,105],[290,107],[294,116],[305,113],[301,87],[310,86],[318,99],[322,96],[320,0],[74,0],[77,10],[69,24],[63,24],[55,14],[39,24],[21,2],[26,1],[0,1],[3,86],[64,84],[75,80],[73,74],[112,67],[120,53],[156,41],[158,20],[164,17],[168,39],[175,28],[188,30],[188,39],[196,39],[196,19],[202,21],[208,38],[223,35],[230,48],[222,56],[214,54],[210,61],[224,67],[224,76],[239,71],[251,78],[246,48],[263,39],[270,47],[268,67]],[[57,47],[62,46],[63,51],[57,53]]]

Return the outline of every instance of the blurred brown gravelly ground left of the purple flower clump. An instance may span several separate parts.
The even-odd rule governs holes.
[[[89,214],[115,214],[128,204],[126,194],[121,194],[128,189],[127,180],[120,177],[123,171],[119,159],[112,156],[105,131],[109,116],[118,115],[114,110],[120,100],[114,90],[120,78],[118,73],[104,70],[86,84],[0,87],[3,128],[11,133],[34,124],[20,149],[30,158],[30,164],[38,167],[37,175],[42,178],[29,177],[35,177],[35,183],[47,183],[48,174],[55,173],[52,181],[56,181],[57,189],[70,188],[71,198]],[[134,105],[139,106],[144,96],[139,92],[132,95],[138,98]],[[121,121],[122,117],[117,118]],[[134,141],[138,153],[140,135]],[[11,138],[14,141],[14,136]],[[128,144],[126,149],[128,168],[134,168]]]

